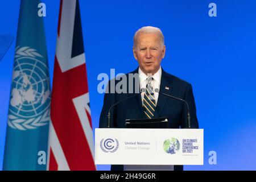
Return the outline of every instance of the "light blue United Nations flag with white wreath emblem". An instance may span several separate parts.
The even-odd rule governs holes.
[[[3,170],[46,170],[51,87],[39,3],[20,2]]]

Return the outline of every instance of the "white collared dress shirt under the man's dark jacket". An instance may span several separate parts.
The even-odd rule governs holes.
[[[139,86],[140,88],[145,88],[147,86],[147,78],[152,76],[152,81],[151,81],[151,86],[153,87],[153,90],[157,89],[158,92],[160,90],[160,83],[161,83],[161,76],[162,76],[162,68],[160,67],[158,71],[154,75],[146,75],[145,73],[142,72],[141,68],[139,68]],[[154,97],[155,97],[155,105],[158,104],[158,96],[159,93],[155,92]],[[143,103],[143,98],[144,98],[144,92],[141,93],[141,98],[142,98],[142,103]]]

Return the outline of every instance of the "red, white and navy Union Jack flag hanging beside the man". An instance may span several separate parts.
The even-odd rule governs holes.
[[[49,170],[95,170],[79,1],[60,2],[53,73]]]

